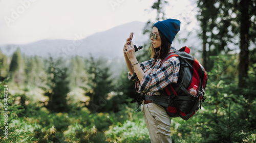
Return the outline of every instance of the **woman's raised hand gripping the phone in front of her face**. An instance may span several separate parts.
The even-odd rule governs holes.
[[[131,45],[128,44],[131,42]],[[131,63],[136,63],[136,55],[135,55],[135,50],[134,50],[134,44],[133,41],[127,41],[124,45],[123,52],[126,53],[127,58],[131,61]]]

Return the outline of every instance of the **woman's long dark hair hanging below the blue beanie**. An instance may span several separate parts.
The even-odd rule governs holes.
[[[153,44],[151,44],[150,47],[151,58],[154,58],[156,60],[165,58],[165,56],[167,56],[167,54],[169,53],[171,46],[167,38],[160,31],[158,31],[158,33],[161,38],[161,50],[160,47],[154,48]]]

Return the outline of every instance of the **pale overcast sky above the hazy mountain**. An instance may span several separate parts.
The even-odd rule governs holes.
[[[124,23],[146,22],[156,18],[150,8],[155,1],[0,0],[0,44],[73,40],[76,34],[84,38]],[[170,0],[166,17],[180,19],[184,26],[182,17],[194,18],[194,8],[189,0]]]

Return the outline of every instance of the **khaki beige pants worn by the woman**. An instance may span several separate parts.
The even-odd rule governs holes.
[[[141,104],[140,107],[146,122],[152,143],[172,142],[170,137],[170,117],[165,109],[155,103]]]

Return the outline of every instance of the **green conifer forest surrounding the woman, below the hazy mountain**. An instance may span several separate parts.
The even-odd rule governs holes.
[[[206,100],[189,120],[172,118],[172,141],[256,142],[256,1],[194,3]],[[155,21],[167,18],[170,5],[152,4]],[[148,20],[143,34],[151,33],[155,21]],[[150,44],[143,45],[139,62],[149,60]],[[27,56],[19,48],[7,56],[0,50],[0,142],[150,142],[143,115],[135,112],[140,94],[127,68],[113,75],[105,61]]]

